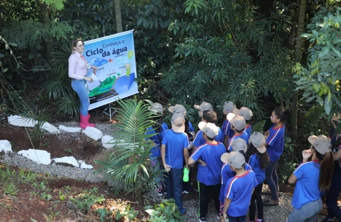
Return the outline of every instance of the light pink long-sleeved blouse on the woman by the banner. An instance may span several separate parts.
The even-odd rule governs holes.
[[[79,52],[74,52],[69,57],[69,77],[74,79],[83,79],[86,70],[91,66],[82,57]]]

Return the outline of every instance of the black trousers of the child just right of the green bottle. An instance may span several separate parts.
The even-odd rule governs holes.
[[[198,216],[200,218],[206,218],[208,213],[208,207],[209,207],[209,200],[210,200],[210,194],[211,198],[214,201],[214,208],[217,213],[219,213],[220,208],[220,202],[219,202],[219,193],[220,193],[220,183],[217,185],[205,185],[203,183],[200,183],[198,181],[198,187],[199,187],[199,212]]]

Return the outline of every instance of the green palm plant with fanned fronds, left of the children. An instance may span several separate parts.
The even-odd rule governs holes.
[[[150,150],[154,143],[148,140],[156,134],[145,134],[149,126],[154,125],[153,117],[148,110],[149,101],[119,100],[116,126],[120,131],[114,132],[117,142],[115,150],[108,160],[95,161],[102,165],[98,171],[105,174],[108,181],[124,185],[126,192],[132,192],[141,198],[144,191],[155,189],[155,180],[160,179],[162,170],[152,169]]]

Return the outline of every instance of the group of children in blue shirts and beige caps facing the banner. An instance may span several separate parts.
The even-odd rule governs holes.
[[[263,135],[252,133],[249,120],[253,113],[249,108],[238,110],[233,102],[226,102],[222,128],[215,125],[217,115],[211,104],[203,102],[194,108],[202,118],[196,134],[186,117],[186,109],[178,104],[168,109],[172,113],[171,129],[160,120],[157,124],[161,127],[153,126],[157,136],[151,138],[156,144],[151,151],[152,166],[161,165],[166,170],[165,186],[163,180],[158,181],[156,192],[167,193],[167,199],[173,198],[180,213],[185,214],[182,193],[189,192],[190,181],[183,182],[183,169],[190,171],[198,163],[200,206],[196,215],[199,222],[206,221],[210,199],[213,199],[220,222],[246,222],[248,212],[248,222],[263,221],[263,206],[279,204],[276,165],[283,153],[284,123],[290,111],[275,108],[270,117],[273,125]],[[152,104],[150,109],[159,114],[163,112],[158,103]],[[328,190],[331,185],[331,174],[320,174],[320,171],[327,174],[327,169],[334,164],[330,140],[311,136],[309,142],[311,148],[302,152],[304,163],[289,179],[289,183],[297,182],[297,185],[294,210],[288,222],[315,222],[322,210],[320,191]],[[310,156],[311,161],[308,161]],[[261,193],[265,180],[269,185],[265,194],[271,198],[263,201]],[[311,186],[313,188],[309,188]]]

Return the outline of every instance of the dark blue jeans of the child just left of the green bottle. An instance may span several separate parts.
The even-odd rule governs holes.
[[[182,208],[182,177],[183,168],[165,173],[167,199],[173,198],[178,209]]]

